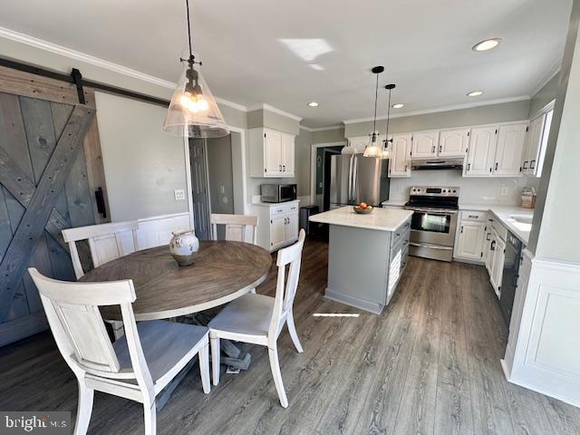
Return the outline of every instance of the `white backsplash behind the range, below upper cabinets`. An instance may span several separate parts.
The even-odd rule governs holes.
[[[533,177],[464,178],[457,169],[414,170],[410,179],[391,179],[389,198],[409,198],[411,186],[458,186],[459,203],[516,206],[521,203],[522,188],[537,188],[538,181]]]

